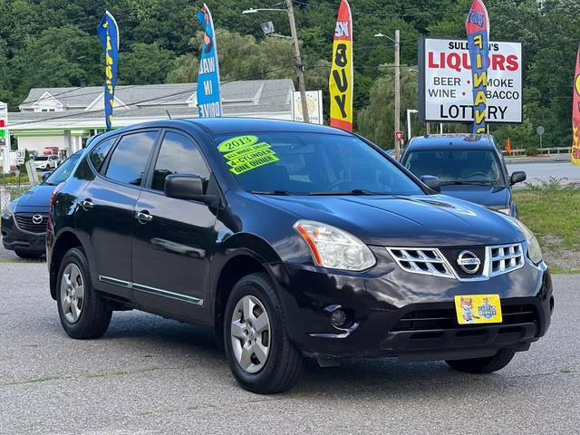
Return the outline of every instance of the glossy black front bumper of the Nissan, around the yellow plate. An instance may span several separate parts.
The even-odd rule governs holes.
[[[378,265],[362,274],[313,266],[270,265],[283,297],[291,340],[314,357],[396,356],[436,361],[490,356],[502,348],[525,351],[543,336],[554,306],[545,264],[486,281],[460,282],[403,271],[384,249]],[[384,251],[384,252],[383,252]],[[498,294],[502,324],[459,325],[456,295]],[[350,319],[331,324],[333,309]]]

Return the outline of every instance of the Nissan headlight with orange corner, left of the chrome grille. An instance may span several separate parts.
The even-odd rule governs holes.
[[[369,247],[342,229],[308,220],[294,227],[310,247],[316,266],[360,272],[377,262]]]

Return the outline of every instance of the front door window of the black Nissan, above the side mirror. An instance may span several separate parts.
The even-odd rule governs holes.
[[[165,179],[171,174],[198,175],[206,181],[209,179],[209,169],[198,147],[184,135],[168,131],[161,143],[151,189],[162,191]]]

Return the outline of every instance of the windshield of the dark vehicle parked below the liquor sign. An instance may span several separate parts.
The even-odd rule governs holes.
[[[438,177],[441,186],[506,184],[498,156],[492,150],[410,151],[404,159],[404,165],[417,177],[423,175]]]

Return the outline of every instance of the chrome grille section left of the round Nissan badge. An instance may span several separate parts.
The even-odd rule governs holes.
[[[401,269],[413,274],[453,278],[449,264],[439,249],[387,248]]]

